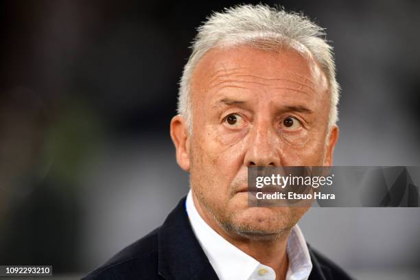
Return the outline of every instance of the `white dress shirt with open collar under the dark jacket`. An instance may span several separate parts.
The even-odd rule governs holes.
[[[185,202],[189,222],[211,266],[220,280],[275,280],[275,270],[236,248],[216,233],[198,213],[191,189]],[[286,280],[306,280],[312,270],[312,261],[305,238],[299,226],[293,227],[287,244],[289,259]]]

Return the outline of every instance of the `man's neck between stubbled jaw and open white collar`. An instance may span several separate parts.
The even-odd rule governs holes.
[[[201,218],[205,220],[211,229],[229,243],[233,244],[233,246],[242,250],[242,252],[250,255],[261,264],[270,266],[270,268],[274,269],[276,272],[276,280],[285,279],[289,266],[286,247],[290,230],[270,239],[244,237],[237,233],[227,232],[214,220],[213,215],[211,215],[207,209],[201,207],[194,194],[193,200]]]

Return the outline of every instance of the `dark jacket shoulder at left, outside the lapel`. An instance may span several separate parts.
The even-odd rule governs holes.
[[[122,249],[105,264],[86,275],[83,280],[160,279],[157,273],[159,229],[154,229]]]

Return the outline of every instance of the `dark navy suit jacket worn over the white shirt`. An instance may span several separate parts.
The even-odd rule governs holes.
[[[351,279],[332,261],[308,247],[313,265],[310,280]],[[183,198],[162,226],[121,250],[84,279],[215,280],[218,277],[192,231]]]

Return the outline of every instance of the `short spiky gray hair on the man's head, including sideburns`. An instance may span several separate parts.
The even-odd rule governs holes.
[[[192,131],[191,78],[195,67],[209,49],[233,45],[250,45],[257,49],[276,50],[287,46],[305,57],[314,58],[327,77],[331,95],[329,128],[338,121],[340,86],[336,81],[336,65],[331,45],[322,27],[310,19],[283,8],[268,5],[237,5],[215,12],[198,27],[191,44],[192,53],[184,67],[178,93],[178,114],[187,119]]]

